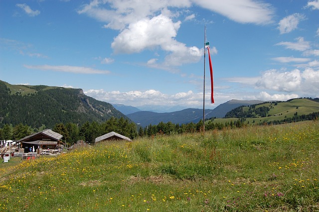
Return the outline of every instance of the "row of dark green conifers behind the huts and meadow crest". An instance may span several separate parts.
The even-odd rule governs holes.
[[[295,115],[291,118],[285,118],[283,120],[273,120],[268,122],[262,122],[259,124],[283,124],[297,121],[305,120],[317,120],[319,112],[313,112],[307,115],[298,115],[296,112]],[[226,121],[225,123],[214,123],[213,118],[205,122],[205,130],[222,130],[224,128],[240,128],[244,127],[247,124],[244,123],[245,118],[239,118],[238,120],[231,120],[230,122]],[[84,140],[89,143],[94,143],[95,138],[109,132],[117,132],[124,136],[127,136],[131,139],[136,137],[152,137],[156,135],[169,135],[169,134],[183,134],[183,133],[194,133],[200,132],[203,129],[202,120],[198,123],[186,123],[186,124],[174,124],[170,121],[164,123],[160,122],[159,124],[149,124],[146,127],[141,127],[130,122],[128,119],[123,117],[116,118],[111,117],[109,120],[99,123],[96,121],[85,122],[81,126],[76,123],[68,122],[66,124],[57,123],[53,127],[53,131],[63,135],[62,140],[71,145],[72,143],[78,140]],[[26,125],[19,123],[15,126],[5,124],[0,128],[0,138],[3,140],[19,140],[25,136],[30,135],[33,129]]]

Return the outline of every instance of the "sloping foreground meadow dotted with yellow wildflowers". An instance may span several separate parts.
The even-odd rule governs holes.
[[[319,122],[100,143],[0,164],[0,211],[319,211]]]

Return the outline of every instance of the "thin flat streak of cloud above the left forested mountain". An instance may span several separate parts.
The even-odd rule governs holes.
[[[27,69],[38,69],[45,71],[70,72],[76,74],[110,74],[110,71],[98,70],[80,66],[50,66],[50,65],[23,65]]]

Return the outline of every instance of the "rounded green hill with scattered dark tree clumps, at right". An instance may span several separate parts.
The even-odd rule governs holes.
[[[214,123],[244,120],[244,123],[291,122],[304,120],[306,115],[319,112],[318,99],[293,99],[287,102],[266,102],[251,106],[239,106],[227,112],[226,118],[215,118]]]

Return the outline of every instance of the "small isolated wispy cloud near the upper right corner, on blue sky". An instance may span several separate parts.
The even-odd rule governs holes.
[[[278,29],[280,34],[289,33],[298,27],[300,21],[304,20],[306,17],[303,14],[295,13],[284,17],[279,21]]]

